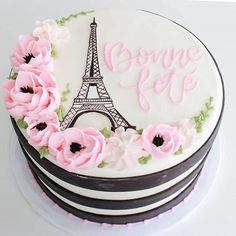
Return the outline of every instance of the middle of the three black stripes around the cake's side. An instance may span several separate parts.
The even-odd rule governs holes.
[[[25,150],[22,148],[24,155],[28,161],[28,164],[30,166],[30,169],[32,172],[34,172],[35,175],[37,175],[43,183],[45,183],[50,189],[52,189],[57,194],[61,195],[62,197],[88,207],[93,208],[100,208],[100,209],[110,209],[110,210],[121,210],[121,209],[132,209],[132,208],[138,208],[143,207],[146,205],[153,204],[155,202],[161,201],[175,192],[179,191],[184,186],[188,185],[194,177],[197,176],[197,174],[201,171],[204,162],[207,158],[207,156],[202,160],[202,162],[198,165],[196,169],[194,169],[188,176],[186,176],[184,179],[180,180],[175,185],[169,187],[168,189],[159,192],[157,194],[153,194],[147,197],[142,197],[138,199],[129,199],[129,200],[102,200],[102,199],[95,199],[92,197],[86,197],[79,194],[76,194],[74,192],[71,192],[59,184],[55,183],[53,180],[51,180],[47,175],[45,175],[30,159],[30,157],[27,155]]]

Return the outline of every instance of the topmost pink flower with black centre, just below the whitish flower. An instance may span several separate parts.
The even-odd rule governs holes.
[[[19,37],[19,43],[11,54],[12,67],[20,70],[53,70],[51,44],[46,39],[37,39],[31,35]]]

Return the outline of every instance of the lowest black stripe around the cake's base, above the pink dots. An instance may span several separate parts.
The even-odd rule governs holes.
[[[108,224],[127,224],[127,223],[136,223],[140,221],[144,221],[147,219],[151,219],[157,215],[160,215],[173,207],[177,206],[179,203],[181,203],[193,190],[194,185],[197,183],[201,172],[195,177],[195,179],[192,181],[192,183],[184,189],[179,195],[177,195],[174,199],[170,200],[169,202],[163,204],[162,206],[159,206],[157,208],[154,208],[152,210],[137,213],[137,214],[131,214],[131,215],[120,215],[120,216],[114,216],[114,215],[99,215],[99,214],[93,214],[89,212],[85,212],[82,210],[79,210],[73,206],[70,206],[69,204],[65,203],[58,197],[56,197],[50,190],[47,189],[46,186],[39,180],[37,175],[32,172],[35,180],[39,184],[39,186],[42,188],[42,190],[46,193],[46,195],[52,199],[56,204],[58,204],[61,208],[66,210],[67,212],[80,217],[82,219],[87,219],[89,221],[98,222],[98,223],[108,223]]]

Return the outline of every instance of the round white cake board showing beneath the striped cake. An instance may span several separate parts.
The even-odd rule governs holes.
[[[149,236],[158,235],[166,229],[170,229],[177,223],[181,223],[187,215],[193,212],[202,200],[206,197],[220,162],[220,142],[216,138],[212,150],[208,155],[201,176],[191,193],[184,201],[171,210],[151,220],[127,225],[109,225],[88,222],[73,216],[57,206],[49,199],[38,186],[24,158],[20,145],[15,134],[10,140],[10,162],[16,182],[23,196],[37,214],[43,217],[50,224],[71,235],[89,236],[96,233],[97,236],[119,236],[132,235]]]

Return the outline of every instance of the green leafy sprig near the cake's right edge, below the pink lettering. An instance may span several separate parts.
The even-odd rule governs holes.
[[[209,118],[210,112],[214,109],[212,106],[213,97],[209,97],[208,101],[205,103],[205,108],[201,110],[198,116],[194,116],[193,120],[195,122],[195,129],[198,133],[203,130],[203,123]]]

